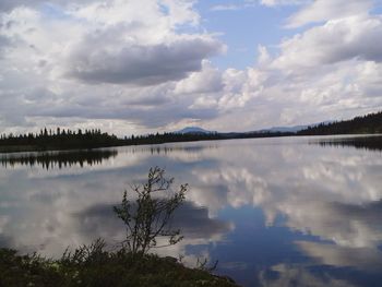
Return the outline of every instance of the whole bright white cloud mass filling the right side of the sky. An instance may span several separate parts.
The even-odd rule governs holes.
[[[327,17],[284,38],[278,52],[271,53],[260,45],[255,68],[222,71],[223,93],[201,95],[193,105],[220,111],[218,118],[208,121],[212,129],[237,130],[230,115],[243,122],[243,130],[249,130],[274,125],[274,119],[283,124],[319,122],[333,119],[333,115],[336,119],[351,118],[381,107],[377,77],[381,70],[378,39],[382,38],[382,27],[380,16],[369,14],[369,1],[351,1],[349,5],[342,1],[263,4],[301,4],[295,15],[313,7]],[[346,9],[339,13],[342,4]],[[302,109],[297,108],[301,105]]]

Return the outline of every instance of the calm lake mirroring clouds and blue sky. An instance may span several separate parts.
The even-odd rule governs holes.
[[[375,144],[377,143],[377,144]],[[160,254],[218,260],[243,286],[382,286],[381,136],[0,155],[0,247],[47,256],[123,240],[112,206],[150,167],[189,183]]]

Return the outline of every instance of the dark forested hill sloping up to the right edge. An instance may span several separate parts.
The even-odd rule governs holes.
[[[351,120],[321,123],[299,131],[298,135],[382,133],[382,111]]]

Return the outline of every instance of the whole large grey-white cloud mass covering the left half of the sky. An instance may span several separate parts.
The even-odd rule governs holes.
[[[216,116],[189,109],[193,98],[175,92],[175,82],[202,71],[205,59],[225,49],[200,32],[192,1],[49,2],[58,17],[39,5],[13,4],[0,19],[0,52],[7,50],[0,95],[17,109],[2,105],[3,127],[25,129],[43,118],[47,125],[58,118],[62,125],[104,119],[151,129]],[[211,81],[215,87],[204,89],[217,88]]]

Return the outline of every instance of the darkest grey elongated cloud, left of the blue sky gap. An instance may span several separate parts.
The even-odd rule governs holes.
[[[67,74],[88,83],[154,85],[180,80],[201,70],[202,60],[222,47],[217,40],[207,37],[153,46],[103,43],[107,41],[97,36],[76,47],[70,55]]]

